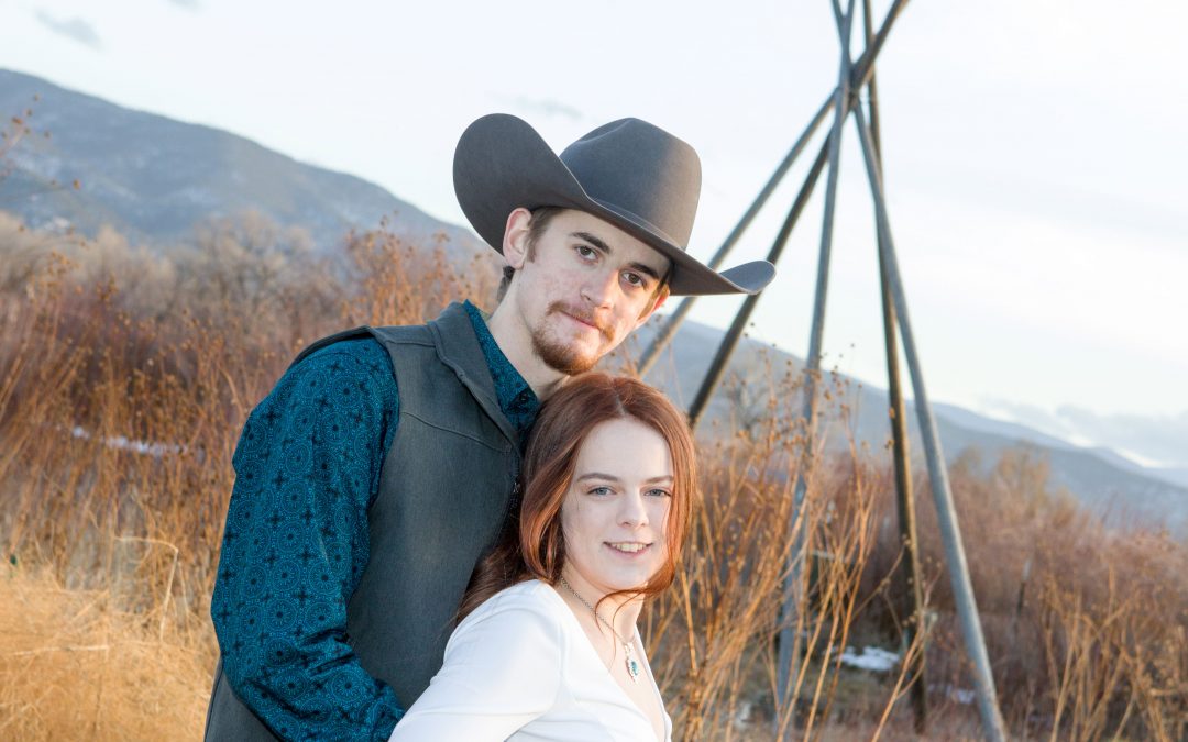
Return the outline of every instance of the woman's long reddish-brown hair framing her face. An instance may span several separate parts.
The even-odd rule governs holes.
[[[475,567],[459,609],[460,620],[516,583],[536,578],[557,584],[565,563],[561,506],[574,477],[577,452],[592,430],[621,419],[638,420],[664,438],[672,457],[674,482],[664,527],[668,547],[664,564],[646,585],[612,595],[652,596],[672,584],[697,486],[696,456],[685,416],[642,381],[602,373],[583,374],[570,380],[542,407],[517,487],[522,493],[520,506],[512,508],[499,544]]]

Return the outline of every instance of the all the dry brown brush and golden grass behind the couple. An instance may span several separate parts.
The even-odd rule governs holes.
[[[0,215],[0,736],[201,735],[209,595],[251,407],[305,342],[421,322],[446,297],[489,306],[498,279],[384,229],[353,235],[346,255],[327,261],[258,217],[208,224],[166,255],[112,233],[31,233]],[[704,507],[687,563],[645,614],[677,738],[770,740],[777,727],[821,740],[911,736],[906,679],[840,665],[845,646],[898,648],[891,478],[857,452],[805,456],[804,431],[789,423],[797,383],[776,378],[766,408],[703,442]],[[792,617],[805,649],[794,692],[777,699],[790,492],[804,461],[795,556],[814,579]],[[1048,492],[1043,462],[1026,452],[990,475],[967,459],[953,481],[1015,733],[1182,738],[1188,548],[1105,529]],[[971,687],[935,515],[918,496],[935,614],[929,684]],[[977,737],[972,709],[944,695],[933,693],[933,738]]]

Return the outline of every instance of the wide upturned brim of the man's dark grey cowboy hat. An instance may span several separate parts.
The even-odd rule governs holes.
[[[766,260],[719,273],[637,215],[592,198],[536,129],[508,114],[482,116],[462,133],[454,152],[454,191],[470,226],[500,253],[508,214],[561,207],[604,218],[671,260],[674,294],[758,293],[776,275]]]

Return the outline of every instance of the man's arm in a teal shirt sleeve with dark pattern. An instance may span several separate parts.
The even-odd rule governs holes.
[[[232,689],[282,738],[385,740],[403,715],[346,633],[397,411],[384,348],[346,341],[289,369],[235,449],[210,613]]]

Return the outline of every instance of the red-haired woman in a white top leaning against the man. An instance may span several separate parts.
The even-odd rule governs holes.
[[[391,740],[669,740],[636,621],[689,520],[684,416],[640,381],[577,378],[542,410],[523,482],[518,528]]]

